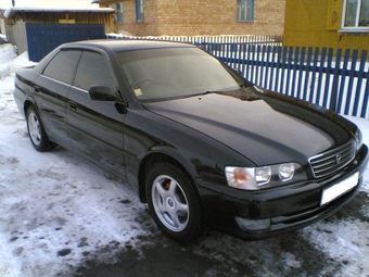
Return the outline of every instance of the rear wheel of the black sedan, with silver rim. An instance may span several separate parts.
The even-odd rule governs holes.
[[[26,121],[30,142],[37,151],[44,152],[55,148],[56,144],[49,140],[40,115],[34,105],[27,109]]]

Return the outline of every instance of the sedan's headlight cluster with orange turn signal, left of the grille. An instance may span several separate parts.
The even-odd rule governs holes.
[[[290,180],[306,179],[303,167],[297,163],[284,163],[260,167],[226,167],[229,187],[258,190],[285,184]]]

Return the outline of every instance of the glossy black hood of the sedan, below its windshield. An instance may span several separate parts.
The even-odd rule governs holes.
[[[144,106],[212,137],[256,165],[306,163],[308,158],[340,143],[338,140],[348,138],[342,126],[310,103],[250,89],[246,97],[207,93]],[[257,90],[259,93],[255,93]]]

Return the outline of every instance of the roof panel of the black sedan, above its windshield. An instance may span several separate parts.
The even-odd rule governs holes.
[[[142,39],[99,39],[99,40],[85,40],[77,42],[69,42],[61,46],[61,48],[99,48],[103,50],[111,50],[113,52],[130,51],[130,50],[142,50],[142,49],[154,49],[154,48],[183,48],[183,47],[195,47],[190,43],[174,42],[174,41],[162,41],[162,40],[142,40]]]

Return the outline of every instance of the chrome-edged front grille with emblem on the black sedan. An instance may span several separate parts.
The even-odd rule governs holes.
[[[342,147],[327,151],[309,159],[316,178],[325,177],[345,167],[355,158],[355,142],[349,141]]]

